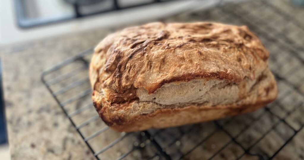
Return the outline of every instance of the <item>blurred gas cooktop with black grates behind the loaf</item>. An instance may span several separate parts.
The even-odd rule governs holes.
[[[93,16],[106,12],[178,0],[54,0],[45,2],[40,2],[40,0],[13,1],[15,2],[17,23],[19,27],[25,29],[43,24],[57,23],[81,17]]]

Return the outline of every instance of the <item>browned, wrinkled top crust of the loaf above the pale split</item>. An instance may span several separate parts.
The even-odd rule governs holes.
[[[238,83],[254,79],[269,53],[246,26],[220,23],[149,23],[110,34],[95,48],[90,80],[112,102],[154,93],[166,83],[195,78]]]

